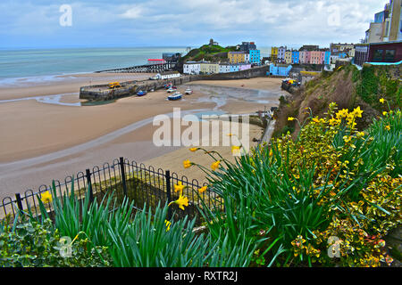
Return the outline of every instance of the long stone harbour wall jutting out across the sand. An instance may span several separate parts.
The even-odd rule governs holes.
[[[80,87],[80,99],[88,101],[107,101],[127,97],[136,94],[139,90],[151,91],[164,88],[164,85],[172,82],[173,85],[182,85],[198,80],[236,80],[252,77],[266,77],[269,66],[241,70],[230,73],[216,73],[211,75],[190,75],[165,80],[145,80],[122,82],[121,87],[109,88],[109,85],[89,85]]]

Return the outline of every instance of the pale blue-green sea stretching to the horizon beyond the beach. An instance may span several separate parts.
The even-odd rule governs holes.
[[[271,48],[260,48],[268,56]],[[0,86],[21,82],[41,83],[60,80],[61,75],[90,73],[105,69],[147,64],[161,59],[162,53],[188,52],[187,47],[115,47],[66,49],[0,49]]]

